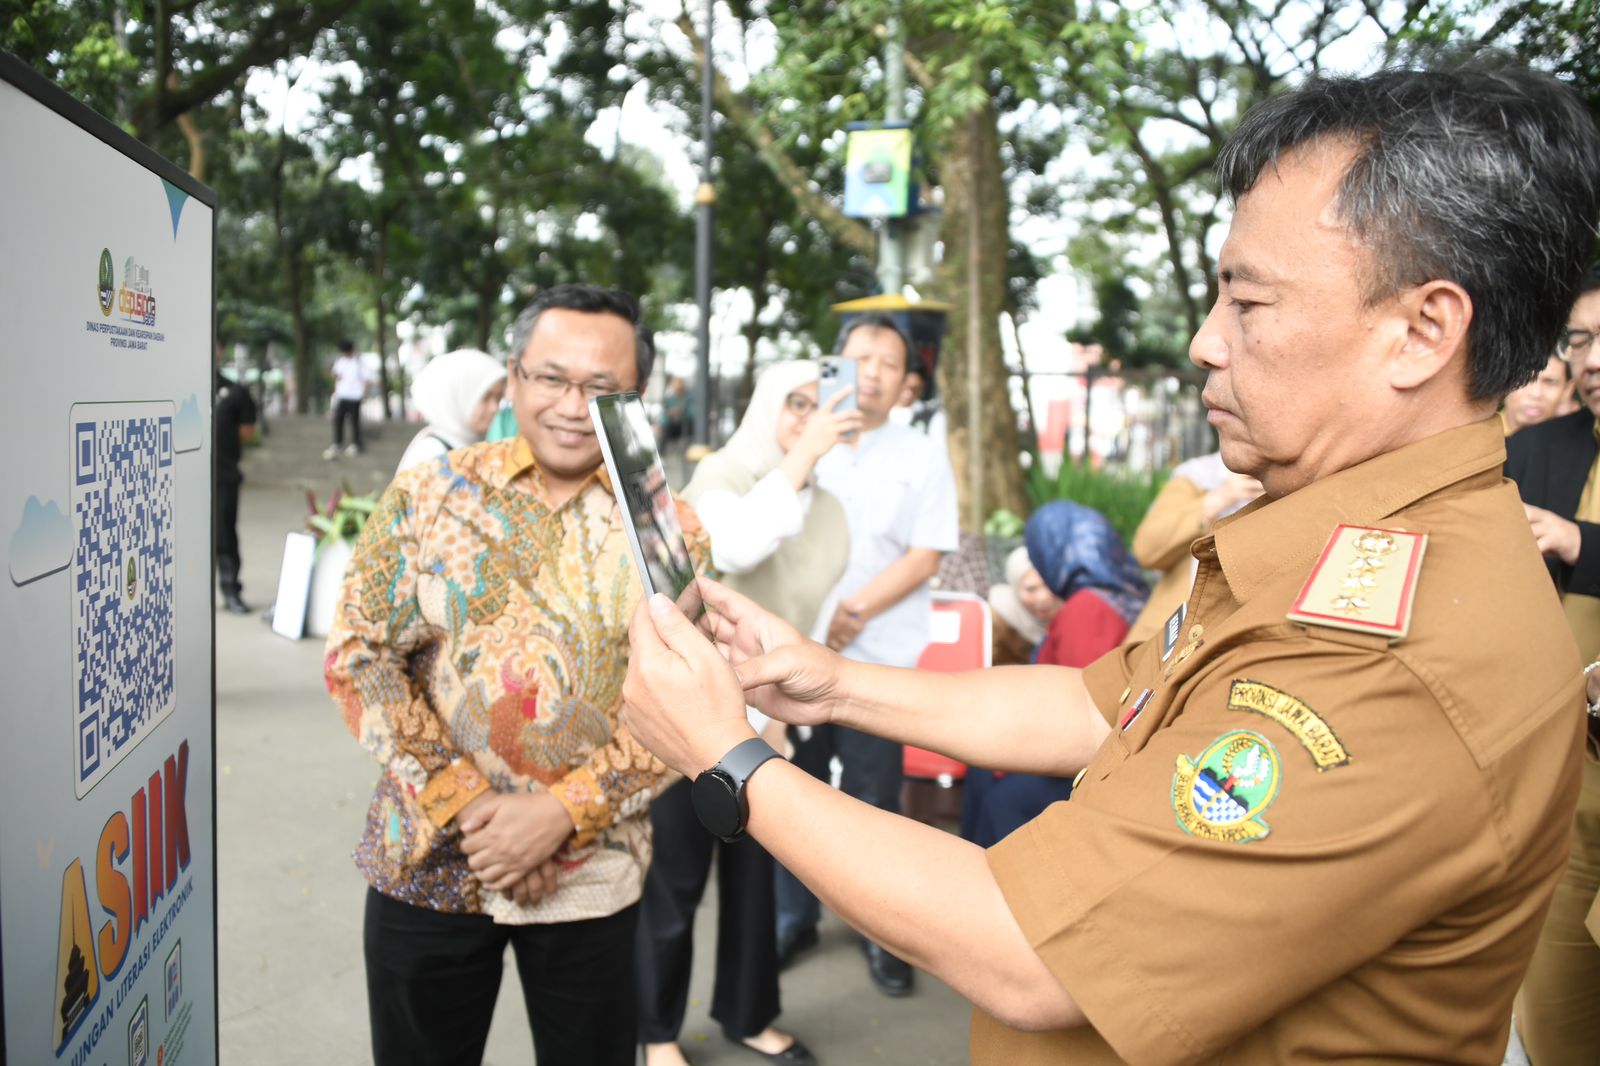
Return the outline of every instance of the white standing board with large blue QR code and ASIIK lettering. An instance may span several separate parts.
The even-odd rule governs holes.
[[[3,1061],[216,1063],[216,197],[0,53]]]

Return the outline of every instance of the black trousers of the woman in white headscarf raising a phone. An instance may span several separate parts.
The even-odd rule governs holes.
[[[678,781],[650,805],[656,858],[638,909],[638,1039],[667,1044],[683,1029],[694,957],[694,909],[717,858],[717,976],[710,1016],[728,1039],[752,1037],[778,1018],[773,941],[773,856],[746,837],[706,832]],[[541,1063],[542,1066],[542,1063]]]

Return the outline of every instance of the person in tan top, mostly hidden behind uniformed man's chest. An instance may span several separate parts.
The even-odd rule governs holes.
[[[1146,640],[1189,599],[1195,560],[1189,546],[1261,495],[1261,482],[1234,474],[1213,451],[1186,459],[1155,495],[1139,528],[1133,531],[1133,557],[1146,570],[1160,570],[1144,610],[1128,629],[1128,640]]]

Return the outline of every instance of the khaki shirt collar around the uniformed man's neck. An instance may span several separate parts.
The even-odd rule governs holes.
[[[1214,535],[1218,563],[1234,599],[1245,602],[1274,576],[1307,570],[1341,522],[1378,525],[1472,477],[1498,482],[1504,464],[1506,439],[1493,416],[1446,429],[1229,515]]]

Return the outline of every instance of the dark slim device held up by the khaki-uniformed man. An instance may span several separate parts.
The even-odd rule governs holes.
[[[694,584],[694,560],[678,525],[677,504],[667,488],[667,472],[656,451],[656,434],[645,403],[637,392],[597,395],[589,400],[589,418],[618,506],[622,507],[622,528],[645,595],[661,592],[690,621],[698,619],[704,603]]]

